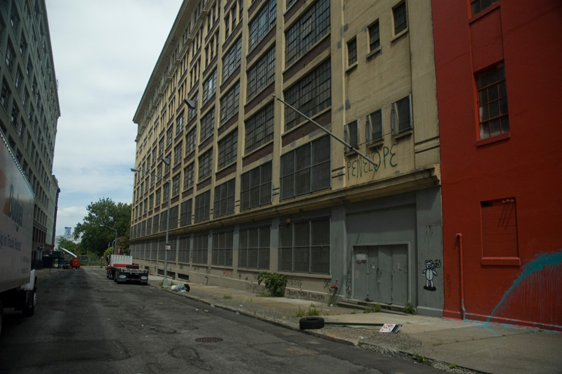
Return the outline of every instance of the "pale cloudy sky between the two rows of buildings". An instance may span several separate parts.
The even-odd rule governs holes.
[[[60,118],[56,235],[100,199],[131,204],[141,101],[181,0],[46,0]]]

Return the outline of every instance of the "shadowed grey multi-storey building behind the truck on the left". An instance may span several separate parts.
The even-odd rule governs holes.
[[[34,266],[53,250],[58,181],[53,172],[60,117],[44,0],[0,1],[0,129],[33,188]]]

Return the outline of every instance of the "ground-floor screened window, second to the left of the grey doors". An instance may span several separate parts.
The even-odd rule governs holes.
[[[269,226],[240,230],[238,267],[269,269],[270,231]]]

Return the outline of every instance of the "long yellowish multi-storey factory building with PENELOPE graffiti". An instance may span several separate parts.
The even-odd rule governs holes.
[[[133,117],[136,262],[256,292],[272,271],[289,297],[337,285],[339,299],[442,316],[431,14],[429,1],[183,1]]]

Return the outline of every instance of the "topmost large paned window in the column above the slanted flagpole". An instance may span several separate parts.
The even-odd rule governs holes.
[[[329,32],[329,0],[319,0],[285,32],[287,65],[303,56],[306,51]]]

